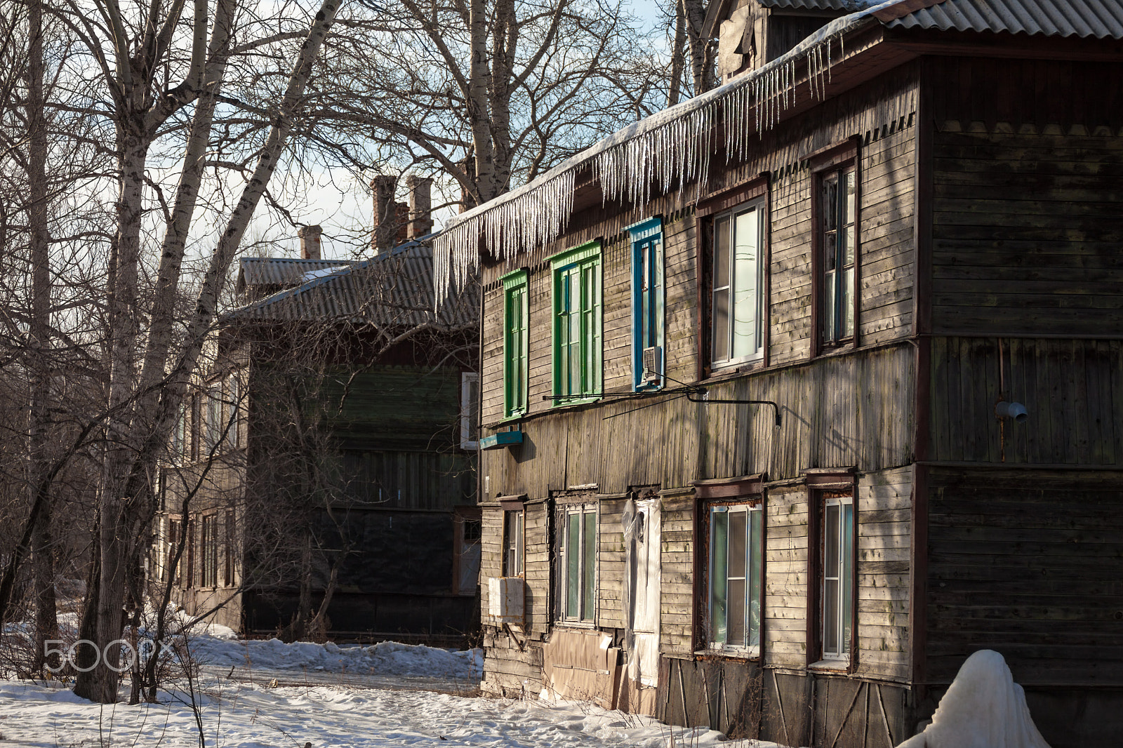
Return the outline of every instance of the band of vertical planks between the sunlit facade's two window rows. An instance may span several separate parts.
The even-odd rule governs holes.
[[[685,398],[559,411],[524,421],[521,445],[485,451],[483,472],[493,495],[546,498],[568,485],[621,493],[631,485],[676,487],[752,473],[796,477],[809,467],[905,465],[912,455],[914,358],[912,346],[898,345],[711,387],[714,399],[777,402],[779,429],[768,405]]]

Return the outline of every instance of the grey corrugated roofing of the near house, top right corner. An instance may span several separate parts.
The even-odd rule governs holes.
[[[1123,38],[1121,0],[944,0],[888,28]]]

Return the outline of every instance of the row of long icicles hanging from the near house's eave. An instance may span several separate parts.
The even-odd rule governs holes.
[[[822,100],[830,82],[832,36],[806,51],[807,82],[813,98]],[[841,34],[839,40],[842,53]],[[795,57],[761,69],[757,75],[727,84],[725,93],[666,122],[659,115],[649,118],[654,126],[619,144],[594,146],[587,155],[558,174],[547,173],[542,183],[513,198],[499,198],[499,204],[456,222],[433,238],[433,276],[437,303],[453,289],[464,286],[478,265],[480,241],[495,259],[510,261],[521,252],[556,239],[565,230],[573,212],[574,179],[592,162],[604,200],[626,199],[643,204],[651,197],[666,194],[695,181],[703,184],[710,172],[714,125],[725,133],[725,157],[743,161],[750,147],[765,131],[776,126],[782,111],[795,104]],[[688,102],[687,102],[688,103]],[[745,116],[754,106],[756,121]],[[557,171],[557,170],[555,170]]]

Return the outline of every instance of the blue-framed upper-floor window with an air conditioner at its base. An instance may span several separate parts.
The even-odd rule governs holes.
[[[664,374],[663,220],[628,227],[632,257],[632,384],[657,387]]]

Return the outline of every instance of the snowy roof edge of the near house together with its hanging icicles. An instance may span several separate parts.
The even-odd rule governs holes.
[[[886,20],[895,18],[894,6],[902,3],[915,7],[915,0],[885,0],[836,18],[767,65],[633,122],[532,182],[460,213],[433,239],[438,302],[475,271],[481,240],[493,258],[511,259],[527,247],[557,238],[573,212],[574,177],[582,168],[593,168],[606,199],[627,197],[633,202],[648,199],[652,181],[666,192],[672,183],[704,180],[712,125],[721,116],[727,117],[728,153],[743,155],[750,137],[769,129],[779,111],[794,103],[797,61],[806,60],[812,94],[822,98],[832,45],[838,45],[841,55],[843,34],[876,22],[875,13]],[[750,103],[756,104],[755,122],[739,117]]]

